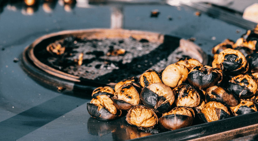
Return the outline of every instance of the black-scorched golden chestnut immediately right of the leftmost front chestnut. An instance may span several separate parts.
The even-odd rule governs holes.
[[[134,81],[120,86],[112,97],[114,105],[119,110],[129,110],[140,103],[141,91],[142,87]]]

